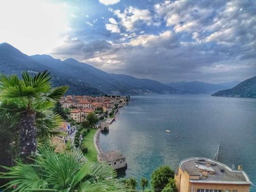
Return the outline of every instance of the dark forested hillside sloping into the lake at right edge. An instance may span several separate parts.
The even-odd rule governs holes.
[[[239,83],[232,89],[218,91],[212,96],[256,98],[256,76]]]

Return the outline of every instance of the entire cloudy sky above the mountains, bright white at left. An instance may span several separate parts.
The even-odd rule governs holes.
[[[0,42],[160,82],[256,75],[256,1],[0,1]]]

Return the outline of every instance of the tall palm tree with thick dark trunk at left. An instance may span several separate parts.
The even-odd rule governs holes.
[[[53,126],[58,124],[52,123],[49,119],[60,120],[59,116],[51,116],[49,109],[68,87],[52,88],[49,74],[44,71],[32,77],[28,72],[23,72],[22,79],[18,79],[16,75],[0,75],[0,100],[5,103],[5,107],[0,110],[1,113],[19,113],[20,155],[25,160],[36,151],[37,134],[49,135],[47,131],[53,131]],[[44,130],[38,129],[40,123]]]

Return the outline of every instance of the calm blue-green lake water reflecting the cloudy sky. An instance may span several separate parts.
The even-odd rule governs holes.
[[[220,144],[218,161],[230,167],[243,165],[256,184],[256,99],[132,96],[99,142],[105,151],[117,149],[126,157],[123,177],[138,182],[141,177],[150,180],[162,164],[176,169],[187,157],[212,159]]]

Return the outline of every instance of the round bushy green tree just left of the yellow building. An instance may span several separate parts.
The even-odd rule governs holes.
[[[161,166],[152,173],[151,186],[155,190],[163,189],[170,178],[174,178],[174,171],[169,166]]]

